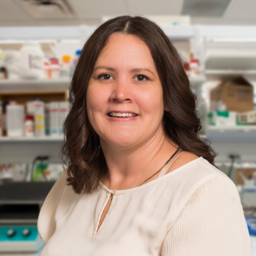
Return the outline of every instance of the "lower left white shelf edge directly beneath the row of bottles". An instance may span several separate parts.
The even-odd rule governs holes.
[[[63,136],[44,136],[44,137],[0,137],[0,143],[8,142],[62,142]]]

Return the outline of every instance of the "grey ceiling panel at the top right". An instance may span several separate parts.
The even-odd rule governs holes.
[[[222,17],[231,0],[184,0],[182,15],[191,17]]]

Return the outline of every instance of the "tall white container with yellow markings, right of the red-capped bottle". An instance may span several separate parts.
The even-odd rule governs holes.
[[[44,102],[34,102],[34,120],[35,120],[35,136],[43,137],[45,135],[44,123]]]

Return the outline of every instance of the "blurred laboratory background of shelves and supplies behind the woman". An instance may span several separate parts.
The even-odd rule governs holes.
[[[234,181],[256,255],[254,0],[0,0],[0,255],[38,255],[36,223],[62,165],[68,88],[87,38],[124,14],[158,23],[197,94],[201,137]]]

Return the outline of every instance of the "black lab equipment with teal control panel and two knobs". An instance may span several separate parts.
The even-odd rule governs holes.
[[[0,253],[39,252],[45,243],[37,218],[54,182],[6,182],[0,185]]]

